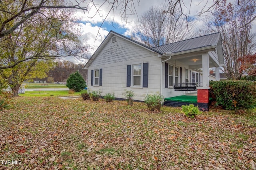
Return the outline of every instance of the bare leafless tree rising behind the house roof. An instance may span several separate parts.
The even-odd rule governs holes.
[[[178,19],[176,14],[166,13],[164,5],[151,7],[136,21],[132,32],[133,38],[150,46],[159,46],[188,38],[193,22]]]

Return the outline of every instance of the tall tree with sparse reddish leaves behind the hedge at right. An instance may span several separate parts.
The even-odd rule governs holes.
[[[256,1],[244,0],[237,5],[223,1],[215,6],[207,20],[206,32],[220,32],[224,53],[224,72],[230,79],[240,80],[246,73],[244,61],[255,53],[256,33],[252,23],[256,13]]]

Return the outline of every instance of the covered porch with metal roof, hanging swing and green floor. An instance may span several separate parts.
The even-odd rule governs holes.
[[[159,56],[162,58],[163,67],[165,63],[165,70],[167,65],[174,63],[174,68],[179,71],[179,74],[175,75],[177,81],[174,79],[174,85],[170,86],[169,83],[168,87],[165,85],[161,90],[166,97],[164,104],[170,106],[172,102],[172,105],[181,106],[193,103],[198,105],[200,110],[208,111],[210,68],[215,70],[214,80],[218,81],[220,80],[220,67],[224,65],[220,33],[163,45],[157,47],[157,50],[165,51],[164,55]],[[180,67],[176,65],[177,63]],[[175,74],[176,70],[174,70]],[[192,84],[196,84],[196,88],[193,88]],[[168,91],[169,94],[166,93]],[[183,94],[192,91],[196,96],[180,96],[181,94],[177,91],[184,91]]]

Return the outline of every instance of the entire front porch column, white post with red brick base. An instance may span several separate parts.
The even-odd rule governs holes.
[[[202,87],[197,89],[197,104],[198,108],[202,111],[209,110],[209,55],[208,53],[202,55]]]

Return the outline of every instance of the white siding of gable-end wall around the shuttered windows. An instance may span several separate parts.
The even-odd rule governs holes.
[[[148,63],[148,88],[126,87],[127,65]],[[102,68],[102,86],[91,86],[91,70]],[[88,89],[101,90],[102,96],[114,93],[116,98],[124,98],[124,90],[135,92],[134,100],[144,100],[146,94],[160,94],[160,58],[158,54],[144,49],[125,39],[111,39],[88,67]]]

